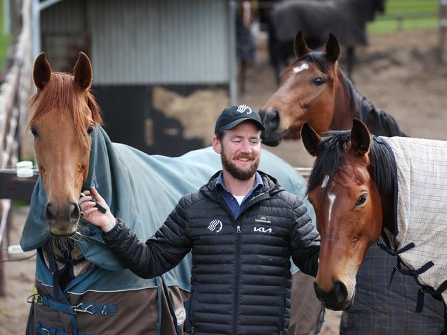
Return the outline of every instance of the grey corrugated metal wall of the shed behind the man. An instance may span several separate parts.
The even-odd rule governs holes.
[[[227,0],[64,0],[41,18],[44,39],[87,33],[96,85],[230,82]]]

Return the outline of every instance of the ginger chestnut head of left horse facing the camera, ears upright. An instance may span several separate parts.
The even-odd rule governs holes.
[[[54,236],[76,233],[78,199],[87,180],[90,133],[102,122],[90,94],[93,77],[89,58],[80,52],[74,75],[52,72],[45,54],[34,63],[37,93],[30,99],[29,122],[47,204],[45,219]]]

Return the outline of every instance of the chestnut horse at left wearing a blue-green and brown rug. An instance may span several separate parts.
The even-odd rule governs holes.
[[[21,246],[38,252],[26,334],[184,334],[190,256],[160,277],[137,277],[111,254],[100,229],[83,220],[78,198],[95,186],[111,211],[146,240],[182,195],[221,169],[219,155],[206,148],[169,158],[112,143],[100,127],[100,109],[90,92],[91,63],[82,52],[73,75],[52,72],[45,54],[39,55],[33,78],[37,92],[30,99],[29,128],[40,177]],[[262,155],[260,169],[303,197],[305,182],[292,166],[268,151]],[[294,310],[308,313],[316,306],[316,319],[321,310],[312,296],[301,301],[305,288],[312,288],[302,276],[292,277],[298,283],[292,288],[296,329],[302,328],[303,312]]]

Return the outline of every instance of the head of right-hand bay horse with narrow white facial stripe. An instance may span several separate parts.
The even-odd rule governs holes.
[[[301,137],[316,156],[307,188],[321,235],[315,291],[326,307],[344,310],[353,301],[365,252],[382,230],[384,195],[393,188],[392,162],[357,119],[351,131],[330,131],[323,138],[305,123]]]

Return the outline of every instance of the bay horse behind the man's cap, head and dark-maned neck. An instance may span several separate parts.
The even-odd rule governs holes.
[[[276,146],[281,140],[297,140],[304,122],[318,133],[350,129],[353,118],[364,121],[374,135],[404,136],[394,118],[353,87],[338,66],[340,45],[329,34],[325,51],[309,50],[303,34],[294,41],[296,61],[287,67],[278,90],[262,107],[263,143]]]

